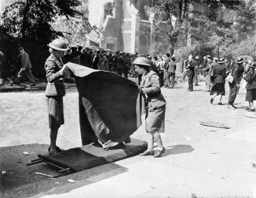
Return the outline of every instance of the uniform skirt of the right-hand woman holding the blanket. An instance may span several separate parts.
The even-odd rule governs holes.
[[[148,111],[145,120],[145,129],[149,132],[164,132],[165,105]]]

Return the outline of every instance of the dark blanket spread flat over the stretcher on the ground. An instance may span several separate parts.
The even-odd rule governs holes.
[[[131,143],[125,144],[122,149],[104,151],[93,144],[83,147],[68,149],[54,155],[38,155],[45,161],[52,162],[62,168],[71,168],[73,172],[82,171],[110,162],[138,155],[147,149],[145,142],[131,139]]]

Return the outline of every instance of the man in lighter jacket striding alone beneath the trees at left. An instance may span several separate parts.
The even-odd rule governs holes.
[[[35,86],[35,79],[32,75],[32,65],[30,63],[29,55],[24,51],[23,47],[18,48],[21,54],[21,70],[18,73],[17,79],[13,82],[14,84],[20,84],[21,78],[24,74],[27,75],[27,78],[30,82],[29,86]]]

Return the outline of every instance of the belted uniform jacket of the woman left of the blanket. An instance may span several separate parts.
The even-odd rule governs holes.
[[[51,54],[45,62],[45,71],[47,78],[47,85],[45,89],[46,96],[64,96],[65,88],[64,84],[59,82],[64,80],[64,74],[60,73],[63,67],[61,58]]]

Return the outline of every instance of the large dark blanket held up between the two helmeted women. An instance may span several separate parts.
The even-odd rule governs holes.
[[[145,103],[137,85],[113,72],[74,63],[66,65],[74,73],[79,93],[82,145],[98,140],[103,144],[121,143],[129,138],[141,125],[138,115],[145,113],[145,108],[141,110],[141,104]]]

